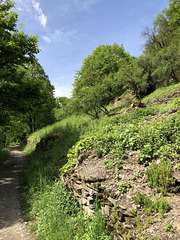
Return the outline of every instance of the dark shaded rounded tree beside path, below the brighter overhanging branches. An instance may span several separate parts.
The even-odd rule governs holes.
[[[15,77],[18,80],[4,84],[0,92],[1,102],[11,96],[4,104],[6,110],[2,111],[1,119],[1,134],[6,144],[20,142],[29,133],[54,122],[54,87],[40,64],[18,66]]]

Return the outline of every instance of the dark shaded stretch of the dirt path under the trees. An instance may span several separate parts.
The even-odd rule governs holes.
[[[18,148],[11,147],[10,157],[0,166],[0,229],[22,222],[19,180],[27,163]]]

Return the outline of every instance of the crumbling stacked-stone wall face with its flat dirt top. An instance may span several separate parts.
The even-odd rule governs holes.
[[[129,211],[129,204],[132,204],[131,197],[129,196],[128,204],[126,199],[126,204],[123,205],[123,199],[118,200],[120,192],[116,188],[112,191],[105,186],[112,176],[112,170],[106,169],[102,160],[94,157],[84,159],[83,162],[80,160],[73,170],[62,176],[62,180],[65,187],[71,191],[89,215],[95,209],[98,196],[102,214],[107,220],[107,227],[113,233],[113,238],[119,240],[125,239],[123,238],[125,232],[128,233],[134,228],[135,218]]]

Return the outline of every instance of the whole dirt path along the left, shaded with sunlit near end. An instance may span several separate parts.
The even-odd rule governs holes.
[[[11,148],[10,158],[0,165],[0,240],[33,240],[19,206],[19,176],[27,166],[25,155]]]

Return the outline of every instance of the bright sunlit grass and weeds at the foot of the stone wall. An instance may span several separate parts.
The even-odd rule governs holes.
[[[38,225],[34,226],[38,239],[111,239],[98,211],[91,217],[84,214],[60,182],[49,184],[39,194],[32,213],[38,219]]]

